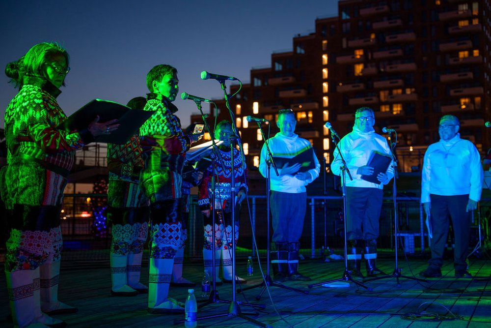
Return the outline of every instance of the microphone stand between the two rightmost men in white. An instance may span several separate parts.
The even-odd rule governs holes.
[[[389,131],[389,139],[392,132],[395,131]],[[392,140],[392,139],[391,139]],[[396,140],[397,140],[397,134],[396,134]],[[396,278],[397,281],[397,287],[401,287],[401,284],[399,282],[399,278],[406,278],[406,279],[411,279],[411,280],[416,280],[416,281],[423,281],[423,282],[428,282],[426,279],[421,279],[421,278],[416,278],[416,277],[410,277],[407,275],[402,275],[402,270],[399,268],[399,259],[398,259],[398,241],[399,241],[399,236],[397,236],[399,232],[399,227],[398,227],[398,211],[397,211],[397,186],[396,186],[396,181],[397,181],[397,156],[395,152],[395,148],[397,146],[397,142],[394,142],[390,145],[390,153],[392,155],[392,167],[394,169],[394,181],[392,183],[392,202],[394,203],[394,236],[395,236],[395,268],[392,274],[386,274],[382,275],[380,277],[373,277],[373,278],[367,278],[363,279],[363,281],[374,281],[374,280],[379,280],[379,279],[386,279],[386,278]]]

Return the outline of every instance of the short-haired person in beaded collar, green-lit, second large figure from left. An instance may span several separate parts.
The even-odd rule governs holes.
[[[184,304],[168,298],[174,257],[183,247],[179,202],[186,151],[199,135],[184,134],[172,104],[179,91],[177,69],[154,66],[147,74],[147,104],[154,113],[140,127],[144,168],[140,186],[150,199],[151,246],[148,277],[149,313],[184,313]]]

